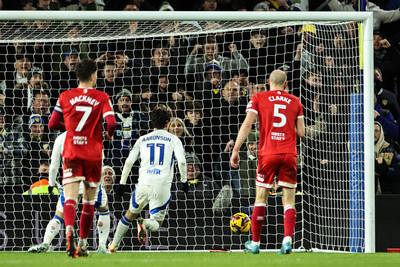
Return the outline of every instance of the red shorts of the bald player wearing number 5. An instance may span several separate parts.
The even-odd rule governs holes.
[[[296,155],[278,154],[260,157],[258,159],[256,185],[273,188],[275,175],[277,176],[279,186],[296,188]]]

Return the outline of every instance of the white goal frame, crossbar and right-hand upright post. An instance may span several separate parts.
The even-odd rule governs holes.
[[[362,32],[360,32],[362,41],[360,67],[363,69],[364,88],[364,252],[375,253],[372,12],[0,11],[0,18],[2,21],[45,19],[56,21],[357,21],[363,23]]]

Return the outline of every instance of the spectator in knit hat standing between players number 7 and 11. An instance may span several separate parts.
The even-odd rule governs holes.
[[[128,157],[136,140],[147,133],[149,129],[148,119],[138,111],[132,110],[132,94],[126,89],[122,89],[115,97],[115,118],[117,129],[114,138],[104,141],[104,153],[109,165],[114,166],[114,170],[119,177],[125,159]]]

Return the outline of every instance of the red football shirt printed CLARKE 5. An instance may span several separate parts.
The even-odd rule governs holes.
[[[296,120],[303,117],[298,97],[283,90],[255,94],[247,105],[247,112],[255,112],[260,124],[260,156],[295,154]]]

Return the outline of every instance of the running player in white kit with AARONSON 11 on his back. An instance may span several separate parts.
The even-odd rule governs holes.
[[[140,156],[139,181],[132,193],[129,209],[118,223],[110,252],[115,252],[132,221],[139,217],[142,209],[149,204],[150,219],[137,219],[138,240],[144,244],[147,230],[157,231],[164,221],[171,201],[171,183],[174,175],[174,158],[178,161],[181,182],[187,189],[185,150],[179,138],[167,131],[169,112],[156,107],[150,115],[154,130],[141,136],[125,161],[120,184],[126,184],[133,163]],[[184,189],[185,190],[185,189]],[[186,190],[187,191],[187,190]]]

